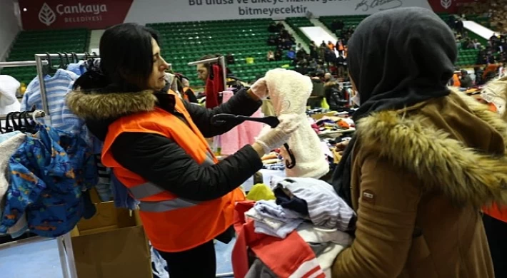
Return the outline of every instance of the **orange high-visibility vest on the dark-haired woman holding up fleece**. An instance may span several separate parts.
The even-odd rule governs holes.
[[[186,200],[123,168],[114,160],[111,154],[114,140],[121,133],[139,132],[171,138],[201,165],[217,163],[183,101],[178,96],[175,98],[175,109],[184,115],[187,123],[161,108],[126,115],[109,126],[102,150],[102,163],[112,168],[119,181],[129,189],[129,194],[141,202],[139,216],[144,231],[154,248],[163,252],[182,252],[213,240],[233,225],[234,205],[244,200],[240,189],[211,201]]]

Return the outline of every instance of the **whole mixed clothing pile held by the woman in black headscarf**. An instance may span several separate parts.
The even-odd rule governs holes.
[[[352,242],[355,212],[322,180],[278,177],[270,187],[254,185],[236,205],[235,276],[331,277]]]

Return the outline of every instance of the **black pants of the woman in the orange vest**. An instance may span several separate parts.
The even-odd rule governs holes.
[[[214,278],[216,276],[216,254],[213,240],[184,252],[159,251],[167,262],[171,278]]]

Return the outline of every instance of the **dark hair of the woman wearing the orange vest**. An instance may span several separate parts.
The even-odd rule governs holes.
[[[74,83],[74,89],[144,89],[153,68],[151,38],[159,43],[156,31],[139,24],[118,24],[106,29],[100,41],[100,68],[84,73]]]

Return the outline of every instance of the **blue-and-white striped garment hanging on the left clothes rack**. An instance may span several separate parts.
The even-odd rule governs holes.
[[[91,135],[84,120],[78,118],[71,112],[65,103],[65,96],[71,91],[74,81],[79,78],[76,73],[59,69],[54,76],[46,76],[46,98],[49,106],[49,118],[52,128],[63,130],[69,133],[80,134],[93,153],[101,153],[101,142]],[[23,99],[21,100],[21,110],[30,110],[32,106],[42,109],[41,88],[39,78],[34,78],[26,87]],[[44,119],[40,119],[44,123]]]

